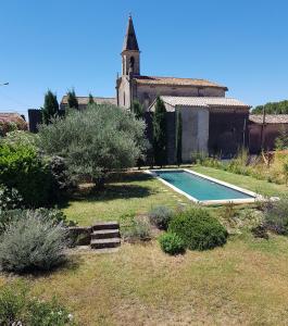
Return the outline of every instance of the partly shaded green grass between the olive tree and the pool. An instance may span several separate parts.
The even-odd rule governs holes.
[[[124,214],[143,214],[153,205],[177,208],[181,202],[190,203],[151,176],[134,172],[109,183],[99,193],[78,196],[63,211],[70,220],[87,226],[95,221],[118,220]]]

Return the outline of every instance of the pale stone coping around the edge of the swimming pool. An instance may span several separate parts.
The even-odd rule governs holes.
[[[216,200],[198,200],[197,198],[186,193],[185,191],[180,190],[179,188],[173,186],[172,184],[167,183],[166,180],[162,179],[160,176],[156,175],[155,171],[184,171],[184,172],[187,172],[187,173],[190,173],[190,174],[193,174],[193,175],[197,175],[199,177],[202,177],[204,179],[208,179],[208,180],[211,180],[213,183],[216,183],[218,185],[222,185],[224,187],[227,187],[227,188],[230,188],[233,190],[236,190],[236,191],[240,191],[245,195],[248,195],[250,197],[253,197],[253,198],[247,198],[247,199],[216,199]],[[235,186],[235,185],[231,185],[231,184],[228,184],[228,183],[225,183],[225,181],[222,181],[220,179],[216,179],[216,178],[213,178],[213,177],[210,177],[210,176],[206,176],[204,174],[201,174],[201,173],[198,173],[198,172],[195,172],[192,170],[189,170],[189,168],[154,168],[154,170],[146,170],[145,173],[149,174],[149,175],[152,175],[153,177],[155,177],[158,180],[160,180],[162,184],[168,186],[170,188],[172,188],[174,191],[185,196],[186,198],[188,198],[189,200],[196,202],[196,203],[199,203],[199,204],[202,204],[202,205],[217,205],[217,204],[228,204],[228,203],[235,203],[235,204],[242,204],[242,203],[255,203],[258,201],[264,201],[264,197],[262,195],[259,195],[256,192],[253,192],[251,190],[247,190],[245,188],[241,188],[241,187],[238,187],[238,186]]]

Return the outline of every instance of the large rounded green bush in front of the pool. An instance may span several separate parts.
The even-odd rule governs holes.
[[[226,243],[227,230],[209,212],[192,208],[178,213],[168,230],[178,235],[190,250],[205,250]]]

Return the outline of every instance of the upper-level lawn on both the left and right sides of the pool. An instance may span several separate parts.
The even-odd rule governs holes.
[[[285,185],[211,167],[195,166],[192,170],[262,195],[278,196],[288,189]],[[104,191],[89,196],[79,195],[63,211],[68,218],[87,226],[95,221],[118,220],[123,214],[147,213],[158,204],[177,208],[183,203],[189,204],[190,201],[149,175],[134,172],[123,175],[121,180],[109,183]]]

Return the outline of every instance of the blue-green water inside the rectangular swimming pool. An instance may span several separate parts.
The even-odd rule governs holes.
[[[197,200],[251,199],[252,196],[225,187],[186,171],[155,171],[163,180]]]

